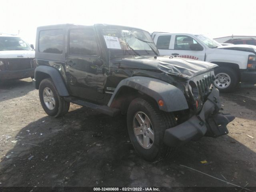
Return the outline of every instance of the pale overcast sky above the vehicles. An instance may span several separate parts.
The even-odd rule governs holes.
[[[0,32],[35,44],[36,28],[116,24],[148,32],[256,36],[256,0],[1,0]]]

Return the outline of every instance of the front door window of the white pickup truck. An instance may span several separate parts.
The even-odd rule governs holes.
[[[174,49],[176,50],[195,50],[193,47],[202,47],[196,40],[186,35],[176,35]]]

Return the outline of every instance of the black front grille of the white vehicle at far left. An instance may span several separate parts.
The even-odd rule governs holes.
[[[17,58],[6,60],[7,68],[10,71],[15,70],[25,70],[34,68],[34,63],[32,58]]]

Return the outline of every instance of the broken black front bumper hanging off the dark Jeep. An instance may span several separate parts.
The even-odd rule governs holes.
[[[186,122],[165,130],[164,143],[168,146],[182,146],[202,136],[218,137],[228,134],[227,124],[234,120],[230,114],[219,113],[221,104],[218,89],[212,89],[199,115]]]

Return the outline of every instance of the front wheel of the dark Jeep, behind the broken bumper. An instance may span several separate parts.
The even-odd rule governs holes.
[[[164,132],[175,125],[174,115],[159,110],[154,101],[136,98],[128,107],[130,140],[138,154],[147,161],[158,162],[171,154],[174,148],[164,144]]]

